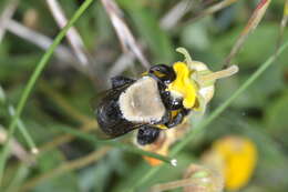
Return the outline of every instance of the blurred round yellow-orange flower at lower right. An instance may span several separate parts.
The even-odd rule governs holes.
[[[257,149],[247,138],[226,137],[213,143],[205,162],[222,172],[227,190],[239,190],[254,173]]]

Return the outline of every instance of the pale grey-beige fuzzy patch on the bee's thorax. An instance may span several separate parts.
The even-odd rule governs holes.
[[[120,110],[132,122],[158,122],[165,114],[157,82],[151,77],[143,77],[128,87],[119,99]]]

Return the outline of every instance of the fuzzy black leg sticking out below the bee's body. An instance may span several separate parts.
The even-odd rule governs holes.
[[[143,125],[137,133],[137,143],[141,145],[151,144],[160,135],[160,129],[151,125]]]

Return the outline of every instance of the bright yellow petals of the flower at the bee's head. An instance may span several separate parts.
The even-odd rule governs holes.
[[[183,105],[186,109],[192,109],[197,99],[197,85],[189,78],[192,71],[184,62],[174,63],[173,69],[177,78],[168,85],[167,90],[183,97]]]

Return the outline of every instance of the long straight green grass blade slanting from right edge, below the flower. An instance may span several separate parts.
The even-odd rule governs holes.
[[[219,117],[219,114],[226,110],[230,103],[238,98],[253,82],[255,82],[260,74],[264,73],[265,70],[267,70],[267,68],[269,68],[275,59],[281,54],[286,49],[288,48],[288,42],[286,42],[285,44],[282,44],[279,49],[279,51],[277,52],[277,54],[274,54],[271,57],[269,57],[267,59],[267,61],[265,63],[263,63],[257,71],[255,71],[253,73],[253,75],[250,78],[248,78],[245,83],[241,84],[241,87],[239,89],[237,89],[234,94],[228,98],[219,108],[217,108],[213,113],[210,113],[203,122],[200,122],[198,125],[196,125],[188,134],[187,137],[185,137],[181,142],[177,143],[177,145],[175,145],[173,148],[173,150],[171,151],[171,156],[175,156],[177,153],[181,152],[181,150],[183,150],[194,138],[196,138],[202,131],[204,131],[204,128],[206,128],[207,125],[209,125],[217,117]],[[135,183],[133,190],[135,190],[136,188],[143,185],[145,182],[147,182],[153,175],[155,175],[161,169],[162,166],[156,166],[156,168],[152,168],[148,170],[148,172],[142,176],[141,180],[138,180],[137,183]]]

